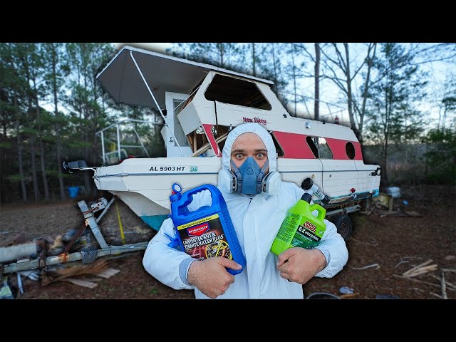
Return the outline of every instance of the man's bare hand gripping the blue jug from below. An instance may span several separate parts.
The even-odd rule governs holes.
[[[234,276],[225,269],[242,269],[237,262],[224,257],[213,257],[193,261],[188,270],[187,280],[209,298],[217,298],[234,283]]]

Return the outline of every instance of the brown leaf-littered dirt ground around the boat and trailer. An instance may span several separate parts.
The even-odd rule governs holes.
[[[334,294],[343,299],[439,299],[442,297],[442,269],[447,281],[448,299],[456,299],[456,201],[455,187],[401,187],[402,196],[395,199],[395,210],[415,211],[422,217],[351,214],[353,234],[346,242],[348,264],[332,279],[311,279],[303,286],[305,296],[316,292]],[[403,204],[403,200],[408,205]],[[149,241],[154,231],[147,227],[123,202],[118,202],[125,242]],[[0,207],[0,245],[24,232],[28,239],[56,237],[83,223],[77,200],[48,204],[7,204]],[[122,244],[115,204],[100,221],[108,244]],[[120,272],[109,279],[98,279],[93,289],[58,281],[41,286],[40,281],[23,277],[24,294],[20,299],[193,299],[193,291],[173,290],[154,279],[142,267],[144,251],[121,254],[108,260],[108,266]],[[105,259],[99,258],[99,259]],[[98,260],[99,260],[98,259]],[[400,276],[414,266],[431,260],[434,271],[413,276]],[[81,265],[81,261],[73,264]],[[376,264],[376,265],[375,265]],[[373,266],[374,265],[374,266]],[[67,265],[68,266],[68,265]],[[50,276],[53,275],[49,272]],[[93,276],[78,276],[92,279]],[[10,275],[12,286],[16,274]],[[343,296],[342,286],[354,294]]]

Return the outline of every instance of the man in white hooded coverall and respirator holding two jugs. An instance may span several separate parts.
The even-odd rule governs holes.
[[[252,171],[254,180],[250,182]],[[261,182],[256,186],[258,180]],[[170,237],[175,237],[168,218],[150,240],[142,260],[155,279],[173,289],[195,289],[197,299],[303,299],[302,284],[313,276],[331,278],[346,264],[345,241],[326,219],[326,231],[314,249],[294,247],[279,257],[270,251],[287,210],[301,199],[304,190],[281,181],[274,142],[258,123],[238,125],[227,136],[218,188],[227,202],[247,265],[232,275],[226,268],[242,268],[235,261],[224,257],[197,260],[168,247]],[[210,201],[209,191],[199,192],[188,208],[192,211]]]

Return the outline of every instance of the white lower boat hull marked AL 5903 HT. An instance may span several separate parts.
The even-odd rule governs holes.
[[[94,180],[99,190],[118,196],[149,227],[159,230],[170,214],[172,184],[178,183],[183,192],[202,184],[217,185],[221,165],[219,157],[132,158],[97,167]],[[331,197],[331,206],[378,195],[380,176],[372,175],[376,167],[353,160],[277,160],[282,180],[300,187],[311,178]],[[314,202],[319,202],[316,197]]]

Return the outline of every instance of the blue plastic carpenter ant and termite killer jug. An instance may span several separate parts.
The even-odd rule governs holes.
[[[203,190],[209,190],[211,193],[212,204],[190,212],[187,206],[192,202],[193,195]],[[209,184],[200,185],[184,193],[181,191],[180,185],[172,185],[170,217],[175,227],[177,242],[171,242],[170,246],[179,245],[182,251],[196,259],[232,259],[244,269],[246,260],[222,192]],[[227,271],[230,274],[238,274],[242,269]]]

